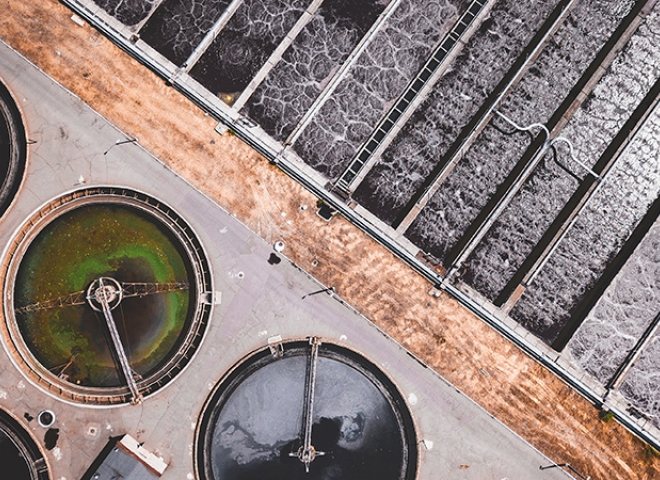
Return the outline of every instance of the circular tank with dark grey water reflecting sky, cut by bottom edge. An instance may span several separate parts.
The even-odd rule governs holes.
[[[235,366],[207,402],[196,440],[204,480],[412,480],[413,420],[361,355],[313,338]]]

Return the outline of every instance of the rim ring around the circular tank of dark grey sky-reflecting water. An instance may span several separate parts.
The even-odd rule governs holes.
[[[281,343],[286,351],[287,345],[290,348],[301,348],[308,346],[309,338],[310,337],[294,337],[282,340]],[[356,349],[353,346],[340,345],[334,341],[326,340],[323,337],[319,337],[319,339],[321,340],[322,347],[329,347],[333,353],[345,355],[349,359],[352,359],[354,362],[361,364],[363,367],[366,367],[365,370],[368,371],[370,375],[376,377],[376,379],[383,384],[382,386],[385,390],[383,394],[386,395],[388,400],[391,402],[395,416],[404,425],[402,440],[407,444],[408,447],[407,471],[405,472],[404,480],[415,480],[418,476],[420,465],[417,428],[412,411],[408,406],[405,397],[399,390],[399,387],[386,372],[384,372],[375,362],[373,362],[359,349]],[[195,468],[195,478],[199,480],[221,480],[214,478],[212,475],[207,475],[208,469],[204,461],[204,451],[209,443],[209,434],[213,432],[213,429],[211,428],[213,420],[217,418],[219,412],[221,411],[221,408],[217,407],[221,400],[223,400],[223,396],[225,396],[228,387],[234,387],[233,383],[235,381],[239,381],[241,377],[246,378],[252,372],[258,370],[258,368],[261,367],[261,365],[255,365],[254,363],[251,365],[245,365],[246,363],[251,361],[258,362],[259,360],[267,358],[271,355],[272,353],[269,346],[253,350],[235,362],[213,386],[211,393],[208,395],[202,409],[198,414],[197,426],[195,428],[195,438],[193,442],[193,463]],[[249,368],[241,368],[243,366]],[[371,381],[369,376],[367,376],[367,378]],[[234,388],[231,388],[232,391],[233,389]],[[379,388],[379,390],[381,389]],[[229,395],[231,395],[231,391],[229,392]]]

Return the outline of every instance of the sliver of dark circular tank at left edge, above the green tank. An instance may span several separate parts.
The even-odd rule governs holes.
[[[21,114],[0,82],[0,216],[9,207],[23,178],[26,144]]]

